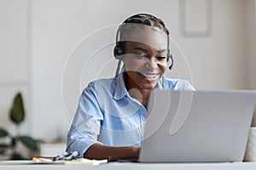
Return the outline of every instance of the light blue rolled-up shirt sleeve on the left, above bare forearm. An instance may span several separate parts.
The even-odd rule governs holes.
[[[97,136],[100,133],[103,119],[97,98],[94,82],[84,89],[79,99],[79,106],[67,134],[67,151],[79,151],[81,157],[92,144],[100,143]]]

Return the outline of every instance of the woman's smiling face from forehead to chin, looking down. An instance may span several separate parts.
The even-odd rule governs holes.
[[[125,84],[128,88],[152,90],[167,67],[167,35],[146,28],[131,34],[133,42],[125,42]]]

